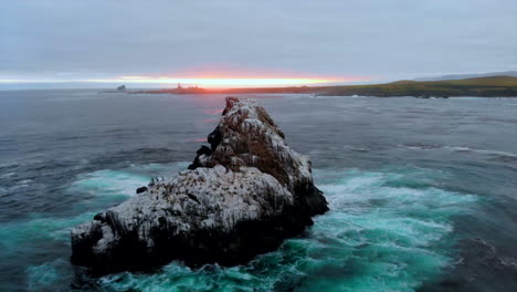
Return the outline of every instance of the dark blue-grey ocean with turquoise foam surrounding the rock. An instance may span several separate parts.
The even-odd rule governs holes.
[[[187,168],[224,97],[0,92],[0,291],[517,291],[516,98],[242,95],[330,211],[244,265],[73,267],[70,229]]]

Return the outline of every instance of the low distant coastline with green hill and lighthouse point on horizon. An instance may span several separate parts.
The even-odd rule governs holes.
[[[247,88],[163,88],[130,91],[147,94],[315,94],[320,96],[414,96],[414,97],[517,97],[517,77],[486,76],[442,81],[397,81],[386,84],[344,86],[291,86]]]

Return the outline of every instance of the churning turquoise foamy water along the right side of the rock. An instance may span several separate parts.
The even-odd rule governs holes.
[[[476,201],[416,184],[443,176],[432,170],[315,174],[331,211],[278,251],[233,268],[172,262],[156,274],[118,273],[99,284],[108,291],[414,291],[451,264],[453,217]]]

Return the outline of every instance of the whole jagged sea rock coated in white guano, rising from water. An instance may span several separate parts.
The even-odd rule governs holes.
[[[226,97],[189,169],[151,184],[74,228],[72,262],[93,272],[244,263],[273,251],[328,210],[310,161],[292,150],[266,111]]]

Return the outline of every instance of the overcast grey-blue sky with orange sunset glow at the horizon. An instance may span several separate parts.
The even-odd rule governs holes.
[[[0,87],[345,84],[510,70],[516,0],[17,0],[0,9]]]

